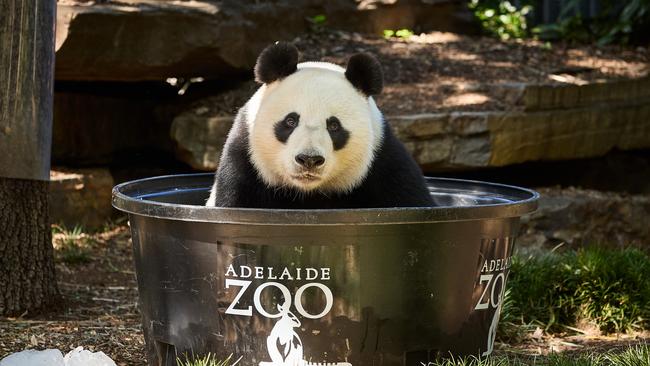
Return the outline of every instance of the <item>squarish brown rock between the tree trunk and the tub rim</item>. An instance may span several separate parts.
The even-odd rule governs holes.
[[[108,169],[50,172],[50,219],[67,227],[99,228],[113,213],[113,177]]]

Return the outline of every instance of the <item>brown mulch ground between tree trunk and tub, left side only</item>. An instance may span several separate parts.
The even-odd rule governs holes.
[[[106,353],[118,365],[146,364],[128,227],[117,225],[80,240],[88,243],[87,262],[68,264],[56,253],[63,307],[35,317],[0,318],[0,358],[27,348],[65,354],[83,346]]]

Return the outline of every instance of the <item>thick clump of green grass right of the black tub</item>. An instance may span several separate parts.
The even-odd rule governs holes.
[[[560,330],[590,323],[604,332],[647,328],[650,256],[639,249],[587,248],[515,258],[504,327],[538,324]]]

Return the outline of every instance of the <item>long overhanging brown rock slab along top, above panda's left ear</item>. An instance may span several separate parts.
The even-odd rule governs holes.
[[[353,0],[81,1],[57,7],[57,80],[232,78],[249,74],[259,52],[277,40],[327,26],[381,34],[409,28],[462,31],[463,1],[392,1],[358,6]],[[471,17],[470,17],[471,18]],[[269,31],[272,30],[272,31]]]

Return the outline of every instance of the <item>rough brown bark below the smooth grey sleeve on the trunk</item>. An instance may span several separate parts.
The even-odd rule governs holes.
[[[58,301],[47,195],[48,182],[0,178],[0,314]]]

